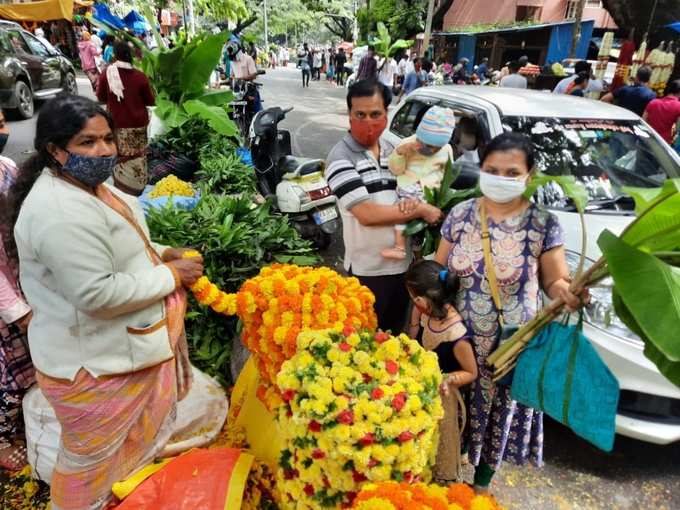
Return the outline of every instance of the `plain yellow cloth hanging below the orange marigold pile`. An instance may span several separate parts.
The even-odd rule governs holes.
[[[275,467],[283,442],[275,416],[257,398],[259,385],[260,374],[251,356],[234,386],[227,420],[235,420],[236,427],[245,432],[250,453],[256,459]]]

